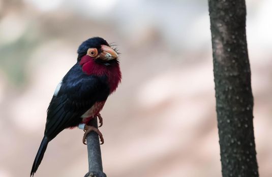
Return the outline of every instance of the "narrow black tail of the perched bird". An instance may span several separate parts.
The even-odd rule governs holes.
[[[43,159],[43,155],[45,153],[45,150],[47,148],[47,145],[49,143],[49,140],[47,137],[43,137],[43,140],[42,140],[42,143],[40,145],[40,148],[37,152],[37,155],[35,157],[35,160],[33,162],[33,166],[32,166],[32,169],[31,169],[31,174],[30,176],[34,176],[34,173],[37,171],[42,159]]]

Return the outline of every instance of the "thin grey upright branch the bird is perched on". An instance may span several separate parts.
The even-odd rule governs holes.
[[[97,127],[97,117],[90,120],[89,125]],[[84,177],[106,177],[103,172],[99,136],[95,131],[87,135],[89,172]]]

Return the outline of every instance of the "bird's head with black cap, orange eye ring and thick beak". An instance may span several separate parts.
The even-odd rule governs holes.
[[[77,60],[82,66],[90,61],[106,66],[118,63],[116,48],[112,48],[112,46],[101,37],[93,37],[85,40],[79,46],[77,53]]]

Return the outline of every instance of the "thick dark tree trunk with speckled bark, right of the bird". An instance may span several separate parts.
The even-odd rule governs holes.
[[[245,0],[208,0],[222,175],[259,176]]]

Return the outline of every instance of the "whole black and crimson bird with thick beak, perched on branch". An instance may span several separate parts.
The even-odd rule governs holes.
[[[103,135],[88,122],[100,114],[108,96],[122,79],[119,53],[116,45],[101,37],[92,37],[81,43],[76,64],[56,86],[47,109],[44,137],[35,157],[31,176],[34,176],[46,151],[48,143],[65,128],[78,127],[85,131],[83,144],[90,131],[95,131],[104,143]],[[99,126],[99,127],[100,127]]]

